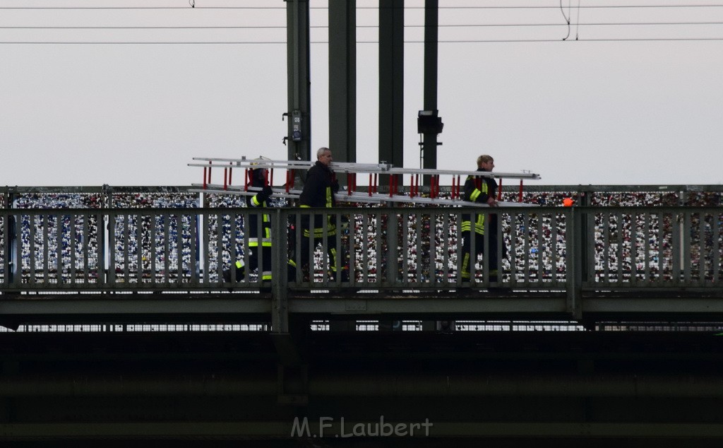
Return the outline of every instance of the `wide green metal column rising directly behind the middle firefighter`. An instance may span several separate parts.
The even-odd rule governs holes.
[[[329,1],[329,147],[356,161],[356,0]]]

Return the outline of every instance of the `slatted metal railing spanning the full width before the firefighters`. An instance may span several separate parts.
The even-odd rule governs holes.
[[[462,214],[484,208],[268,208],[273,278],[291,289],[439,290],[712,288],[723,286],[723,211],[715,206],[505,207],[495,209],[500,270],[487,258],[463,277]],[[321,242],[301,237],[304,219],[337,223]],[[192,290],[264,287],[249,266],[249,208],[66,208],[0,211],[0,290]],[[487,219],[489,223],[489,219]],[[312,258],[301,260],[301,245]],[[348,269],[333,275],[334,245]],[[479,256],[475,256],[479,255]],[[298,269],[287,269],[288,260]],[[304,269],[308,265],[308,269]],[[288,274],[287,274],[288,271]],[[230,281],[229,281],[230,280]]]

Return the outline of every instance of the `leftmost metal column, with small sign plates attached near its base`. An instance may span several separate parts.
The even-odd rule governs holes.
[[[311,160],[309,1],[286,1],[288,159]]]

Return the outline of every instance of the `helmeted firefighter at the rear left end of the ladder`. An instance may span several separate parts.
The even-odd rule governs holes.
[[[249,208],[266,208],[267,202],[273,190],[266,179],[266,169],[251,169],[251,187],[260,188],[260,191],[252,196],[246,197],[246,205]],[[249,242],[249,266],[244,266],[240,260],[236,260],[234,270],[236,271],[236,282],[244,279],[246,272],[252,272],[259,266],[259,251],[262,252],[262,266],[259,276],[262,281],[271,280],[271,220],[267,213],[249,214],[247,223],[247,239]],[[260,228],[259,228],[260,226]],[[231,273],[223,273],[224,280],[231,282]]]

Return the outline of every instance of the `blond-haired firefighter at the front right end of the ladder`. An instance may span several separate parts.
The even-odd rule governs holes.
[[[482,155],[477,158],[477,171],[492,172],[495,160],[492,156]],[[490,207],[497,207],[497,181],[492,177],[468,176],[464,182],[464,200],[476,203],[486,203]],[[470,214],[462,215],[462,278],[469,280],[470,272],[474,271],[476,256],[471,258],[471,232],[474,229],[474,253],[484,253],[485,219],[489,238],[489,281],[497,282],[497,214],[475,214],[475,221],[471,221]]]

